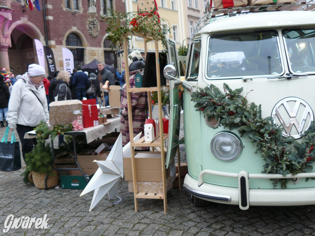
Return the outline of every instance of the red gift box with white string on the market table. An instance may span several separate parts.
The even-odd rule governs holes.
[[[96,100],[94,98],[82,100],[82,113],[84,128],[99,125]]]

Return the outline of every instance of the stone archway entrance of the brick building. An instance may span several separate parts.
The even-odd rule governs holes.
[[[35,25],[27,23],[15,22],[9,30],[11,32],[11,47],[8,49],[9,65],[11,73],[15,76],[24,74],[28,65],[38,63],[34,39],[40,40],[42,34]]]

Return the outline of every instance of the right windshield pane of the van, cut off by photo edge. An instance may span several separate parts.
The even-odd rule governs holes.
[[[315,29],[284,30],[284,42],[291,72],[315,72]]]

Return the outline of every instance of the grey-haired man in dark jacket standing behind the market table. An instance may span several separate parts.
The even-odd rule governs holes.
[[[98,87],[97,87],[97,93],[98,96],[101,97],[101,90],[100,90],[100,83],[103,85],[107,85],[107,90],[110,85],[115,85],[114,82],[114,75],[111,71],[107,70],[105,68],[105,63],[102,61],[97,62],[97,69],[99,70],[99,74],[97,75],[98,78]],[[108,92],[104,92],[104,100],[105,100],[105,106],[109,106],[109,97]]]

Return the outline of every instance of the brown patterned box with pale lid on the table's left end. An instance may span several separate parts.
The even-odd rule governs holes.
[[[82,102],[80,100],[51,102],[49,104],[49,124],[54,126],[72,123],[73,110],[82,110]]]

